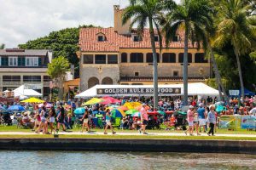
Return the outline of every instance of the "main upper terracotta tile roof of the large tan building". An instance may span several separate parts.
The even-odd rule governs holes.
[[[107,40],[98,42],[96,36],[98,33],[104,34]],[[183,32],[178,34],[183,39]],[[164,41],[163,46],[166,47]],[[151,42],[148,29],[144,30],[142,41],[134,42],[131,34],[121,35],[113,31],[113,28],[81,28],[79,46],[82,52],[119,52],[119,48],[151,48]],[[156,42],[156,48],[159,47],[159,42]],[[183,42],[172,42],[169,48],[183,48]],[[193,48],[191,43],[189,48]]]

